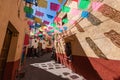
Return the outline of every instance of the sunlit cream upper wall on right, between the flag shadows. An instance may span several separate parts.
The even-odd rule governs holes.
[[[118,0],[104,0],[103,3],[120,11]],[[79,24],[85,30],[85,32],[77,32],[76,35],[86,55],[89,57],[97,57],[85,40],[85,37],[90,37],[107,58],[120,60],[120,48],[115,46],[112,41],[104,35],[105,32],[109,32],[112,29],[120,33],[120,24],[108,17],[103,16],[100,12],[92,11],[91,13],[99,18],[102,23],[98,26],[93,26],[87,19],[83,19]]]

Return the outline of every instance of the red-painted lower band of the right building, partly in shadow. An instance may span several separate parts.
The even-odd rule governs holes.
[[[75,73],[87,80],[120,80],[120,61],[72,55],[72,61],[65,54],[57,54],[58,59]]]

